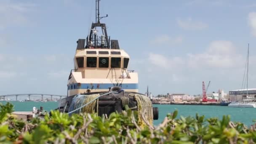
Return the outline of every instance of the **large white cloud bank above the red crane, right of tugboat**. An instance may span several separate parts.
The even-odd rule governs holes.
[[[151,64],[163,69],[186,68],[234,68],[243,67],[245,59],[236,52],[230,41],[212,41],[202,53],[188,53],[182,57],[166,57],[157,53],[149,53]]]

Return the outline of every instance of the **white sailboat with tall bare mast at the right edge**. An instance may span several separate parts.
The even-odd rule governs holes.
[[[247,53],[247,75],[246,75],[246,99],[243,99],[243,101],[239,101],[237,103],[231,103],[228,105],[228,107],[253,107],[256,108],[256,99],[251,98],[248,95],[248,70],[249,70],[249,44],[248,44],[248,53]],[[242,86],[243,87],[243,86]],[[244,89],[241,90],[241,93],[244,92]]]

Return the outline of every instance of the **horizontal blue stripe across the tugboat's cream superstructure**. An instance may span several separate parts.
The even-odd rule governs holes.
[[[109,89],[114,86],[112,83],[78,83],[68,85],[68,90],[71,89]],[[138,89],[138,83],[123,83],[121,85],[123,89]]]

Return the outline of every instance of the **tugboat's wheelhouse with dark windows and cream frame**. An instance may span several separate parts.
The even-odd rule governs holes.
[[[77,50],[75,54],[75,69],[127,69],[130,57],[120,49],[90,49]]]

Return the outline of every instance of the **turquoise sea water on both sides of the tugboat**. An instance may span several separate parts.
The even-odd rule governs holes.
[[[6,104],[5,101],[1,102]],[[44,107],[45,110],[50,111],[58,107],[58,102],[35,102],[35,101],[11,101],[14,105],[15,111],[32,111],[33,107]],[[256,120],[256,108],[236,108],[236,107],[221,107],[221,106],[195,106],[195,105],[167,105],[167,104],[154,104],[154,107],[159,108],[159,119],[154,120],[154,125],[158,125],[164,119],[164,117],[173,112],[175,109],[179,111],[178,117],[193,116],[198,113],[199,115],[205,115],[205,117],[219,117],[223,115],[230,115],[232,121],[240,121],[246,125],[253,124],[253,120]]]

